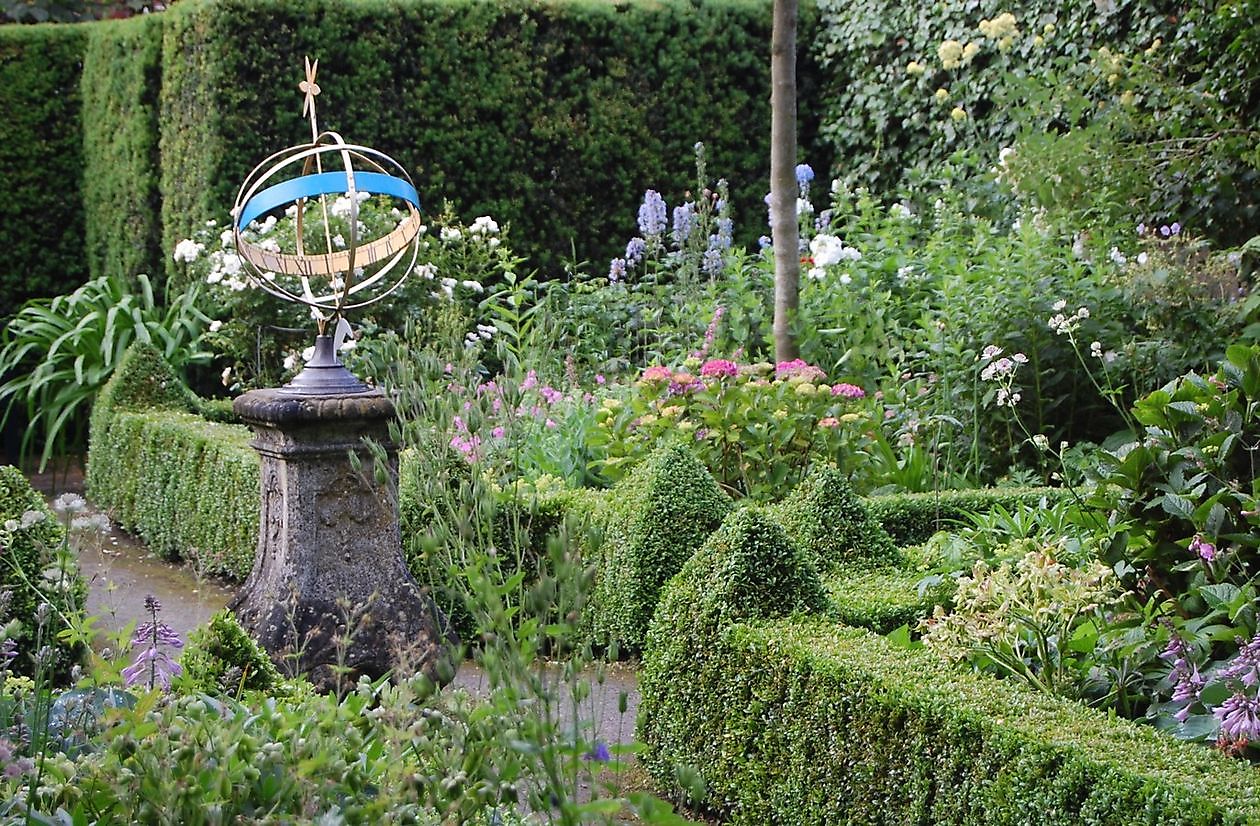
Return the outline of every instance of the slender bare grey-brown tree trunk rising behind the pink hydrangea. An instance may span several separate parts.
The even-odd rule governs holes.
[[[770,238],[775,247],[775,360],[796,358],[800,227],[796,223],[796,4],[775,0],[770,44]]]

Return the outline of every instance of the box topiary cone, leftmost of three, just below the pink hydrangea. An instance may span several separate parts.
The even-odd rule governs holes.
[[[731,501],[682,446],[655,451],[609,497],[592,596],[595,636],[636,652],[662,586],[722,523]]]

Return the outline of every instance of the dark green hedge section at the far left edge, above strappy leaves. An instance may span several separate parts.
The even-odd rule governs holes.
[[[79,73],[87,30],[0,26],[0,321],[83,282]]]

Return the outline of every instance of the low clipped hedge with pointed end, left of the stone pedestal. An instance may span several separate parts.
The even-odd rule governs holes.
[[[92,412],[88,495],[155,553],[243,580],[258,544],[258,456],[246,427],[189,409],[161,355],[134,349]]]

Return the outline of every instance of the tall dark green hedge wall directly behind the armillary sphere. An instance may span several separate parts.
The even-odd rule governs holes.
[[[430,209],[509,220],[536,261],[609,258],[644,189],[678,203],[690,186],[696,141],[745,233],[764,230],[769,0],[222,0],[165,16],[166,249],[309,139],[304,54],[320,60],[321,127],[397,157]]]

